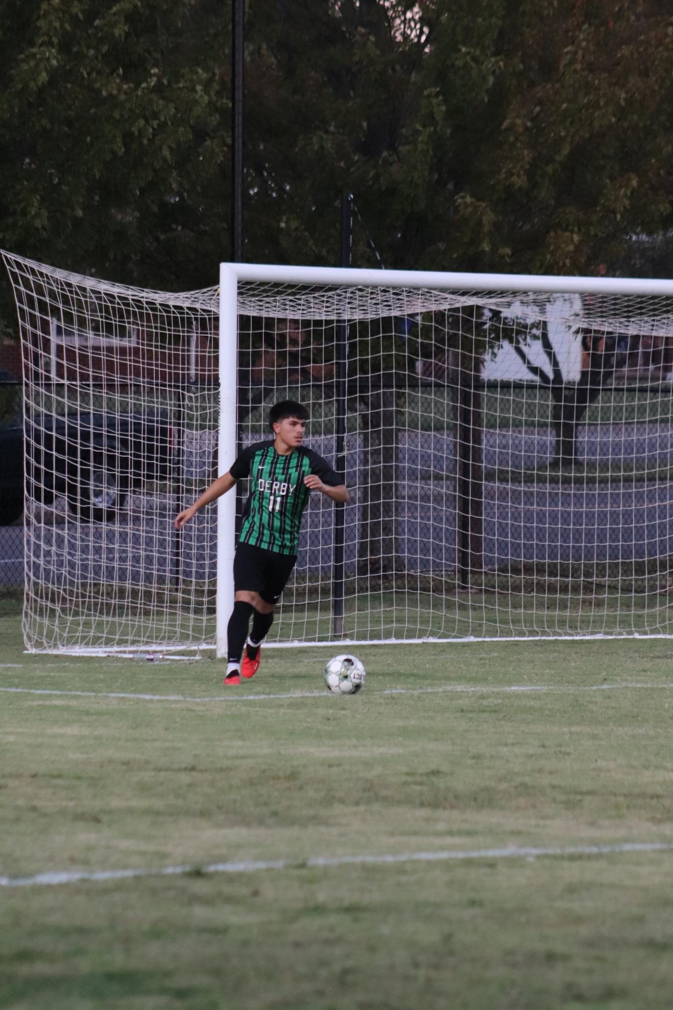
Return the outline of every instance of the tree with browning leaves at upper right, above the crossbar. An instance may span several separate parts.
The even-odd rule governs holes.
[[[477,0],[452,5],[431,37],[452,126],[451,265],[609,273],[630,235],[670,225],[661,0]]]

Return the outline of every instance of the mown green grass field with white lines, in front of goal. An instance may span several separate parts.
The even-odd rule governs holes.
[[[667,640],[361,647],[354,698],[0,641],[1,1007],[670,1007]]]

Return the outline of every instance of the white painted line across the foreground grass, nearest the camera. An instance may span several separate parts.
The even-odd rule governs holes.
[[[536,860],[541,856],[612,855],[619,852],[670,852],[673,842],[625,841],[605,845],[568,845],[549,848],[510,847],[445,850],[437,852],[400,852],[383,855],[317,855],[309,860],[245,860],[238,863],[210,863],[207,866],[161,867],[146,870],[63,871],[35,874],[34,877],[0,877],[0,887],[32,887],[40,884],[79,884],[83,881],[119,881],[134,877],[178,877],[186,874],[247,874],[259,870],[308,870],[343,866],[384,866],[396,863],[447,863],[464,860]]]

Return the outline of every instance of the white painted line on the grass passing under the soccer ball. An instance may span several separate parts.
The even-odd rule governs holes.
[[[671,690],[673,684],[513,684],[503,686],[474,686],[469,684],[447,684],[436,688],[383,688],[381,691],[367,691],[367,695],[398,695],[398,694],[525,694],[550,692],[556,694],[573,694],[576,691],[635,691],[635,690]],[[236,702],[236,701],[274,701],[275,699],[294,698],[335,698],[329,691],[291,691],[286,694],[247,694],[234,693],[228,695],[211,695],[190,697],[188,695],[140,694],[130,691],[60,691],[57,688],[3,688],[5,694],[54,695],[65,698],[127,698],[135,701],[179,701],[190,703]]]

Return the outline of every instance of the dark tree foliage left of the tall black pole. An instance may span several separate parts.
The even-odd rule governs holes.
[[[220,4],[7,0],[0,19],[0,244],[140,286],[216,283]]]

